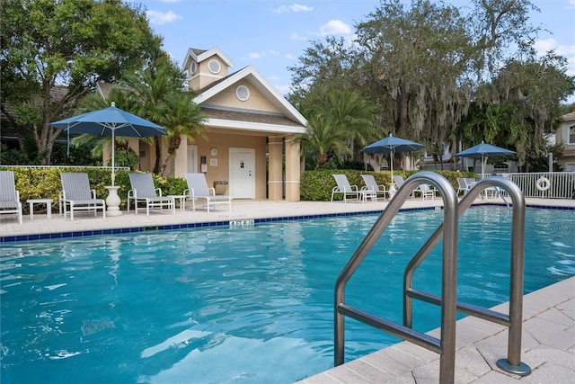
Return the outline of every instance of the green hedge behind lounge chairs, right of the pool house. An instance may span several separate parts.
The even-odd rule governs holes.
[[[411,174],[417,174],[420,171],[394,171],[394,174],[400,174],[403,179],[407,179]],[[444,176],[449,183],[452,183],[457,190],[457,177],[475,177],[475,174],[470,172],[456,172],[456,171],[434,171],[436,174]],[[385,185],[385,189],[389,190],[389,183],[391,182],[391,172],[369,172],[357,171],[353,169],[327,169],[322,171],[305,171],[302,174],[300,195],[301,200],[304,201],[330,201],[332,200],[332,189],[337,186],[332,174],[345,174],[348,177],[349,184],[358,185],[358,188],[364,185],[362,174],[373,174],[376,178],[377,184]],[[337,194],[333,200],[341,200],[343,196]]]

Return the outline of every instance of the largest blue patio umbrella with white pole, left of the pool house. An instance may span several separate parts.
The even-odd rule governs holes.
[[[167,135],[165,128],[147,121],[132,113],[116,108],[114,103],[102,110],[82,113],[61,121],[50,122],[56,129],[70,133],[88,133],[94,136],[111,136],[111,184],[114,185],[116,172],[114,170],[115,137],[146,138],[150,136]]]

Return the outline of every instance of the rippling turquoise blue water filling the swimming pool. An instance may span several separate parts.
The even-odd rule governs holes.
[[[400,213],[349,281],[401,321],[405,263],[443,212]],[[461,219],[458,297],[508,301],[510,211]],[[2,383],[289,383],[332,367],[333,284],[375,215],[6,243]],[[527,210],[526,292],[575,274],[575,211]],[[438,251],[440,246],[438,247]],[[440,257],[415,287],[439,293]],[[414,327],[439,324],[415,302]],[[346,320],[346,360],[398,340]]]

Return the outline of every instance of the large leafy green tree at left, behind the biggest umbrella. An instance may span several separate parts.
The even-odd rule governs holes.
[[[0,20],[0,108],[22,150],[33,138],[41,164],[59,134],[50,121],[96,82],[165,55],[144,10],[119,0],[3,1]]]

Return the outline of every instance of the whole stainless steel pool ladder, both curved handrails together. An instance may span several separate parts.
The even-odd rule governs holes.
[[[394,323],[383,317],[377,317],[359,308],[345,303],[345,287],[358,266],[363,262],[377,239],[402,208],[403,202],[421,183],[430,183],[441,192],[444,201],[444,219],[436,231],[421,246],[416,255],[411,258],[403,272],[403,325]],[[463,215],[479,194],[489,187],[500,187],[509,193],[513,202],[513,217],[511,222],[511,276],[509,292],[509,314],[493,311],[470,304],[458,302],[457,289],[457,234],[459,217]],[[390,335],[400,337],[413,344],[418,344],[435,353],[439,353],[439,382],[453,383],[456,364],[456,311],[467,315],[480,317],[491,322],[508,326],[508,356],[500,359],[497,365],[503,371],[526,376],[531,369],[521,362],[521,332],[523,314],[523,270],[525,251],[525,198],[515,183],[500,176],[491,176],[477,182],[472,190],[467,192],[461,201],[457,201],[456,190],[447,179],[440,174],[420,172],[408,178],[394,198],[389,202],[384,212],[367,233],[343,267],[335,284],[334,302],[334,363],[336,366],[344,362],[344,320],[352,317],[358,321],[374,326]],[[443,239],[443,262],[441,279],[441,297],[413,288],[412,278],[417,267],[429,255],[431,250]],[[420,299],[441,307],[440,338],[426,335],[411,328],[412,299]]]

